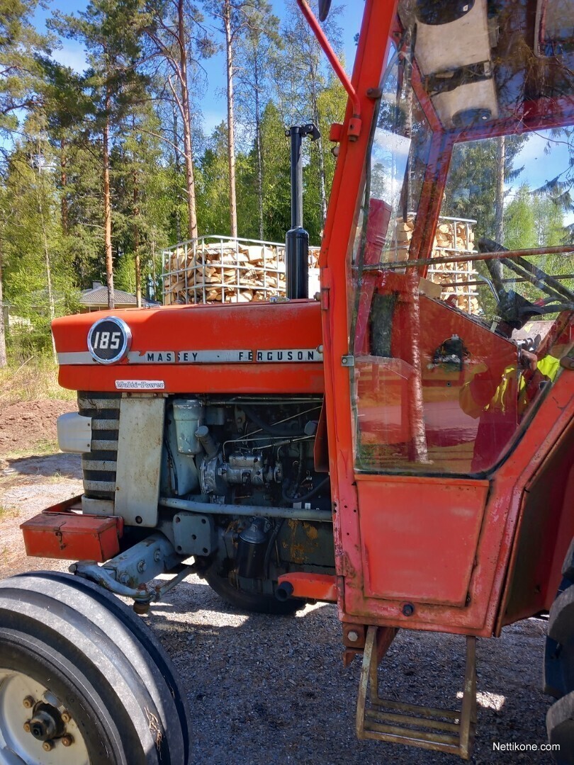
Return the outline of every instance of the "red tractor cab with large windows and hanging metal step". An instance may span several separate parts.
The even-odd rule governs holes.
[[[397,627],[466,634],[471,686],[474,636],[550,609],[560,585],[573,35],[562,0],[367,4],[321,253],[344,638],[371,678],[361,737],[468,756],[469,705],[433,738],[377,697],[381,645]]]

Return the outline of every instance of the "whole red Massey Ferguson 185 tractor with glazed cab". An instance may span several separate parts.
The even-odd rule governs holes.
[[[568,193],[574,4],[366,0],[351,80],[298,6],[349,95],[321,290],[305,125],[286,298],[54,321],[84,493],[22,526],[28,555],[70,574],[0,582],[2,765],[188,762],[184,694],[138,614],[192,572],[244,610],[336,603],[344,661],[363,662],[358,737],[465,759],[477,638],[550,612],[547,729],[574,763],[574,245],[433,250],[457,194],[494,210],[504,192],[483,149],[559,147],[548,177]],[[397,630],[466,636],[461,708],[381,695]]]

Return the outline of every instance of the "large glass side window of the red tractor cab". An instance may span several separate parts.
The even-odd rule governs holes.
[[[351,261],[358,470],[488,473],[563,374],[574,61],[538,38],[528,53],[530,17],[512,9],[494,35],[486,3],[465,24],[399,4]],[[439,45],[454,24],[472,44]]]

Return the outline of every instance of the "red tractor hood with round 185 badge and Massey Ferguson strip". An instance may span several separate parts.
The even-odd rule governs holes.
[[[316,301],[97,311],[56,319],[60,385],[83,391],[321,393]]]

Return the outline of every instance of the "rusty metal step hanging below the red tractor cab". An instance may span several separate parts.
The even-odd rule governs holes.
[[[380,697],[377,672],[379,630],[380,627],[367,630],[357,698],[357,737],[449,752],[469,760],[476,728],[476,638],[467,636],[466,639],[465,687],[461,710],[455,711]]]

